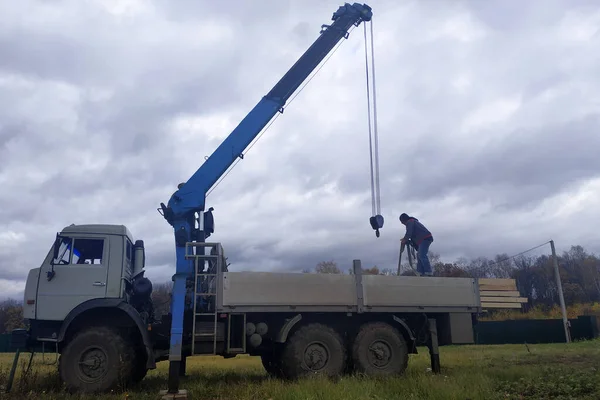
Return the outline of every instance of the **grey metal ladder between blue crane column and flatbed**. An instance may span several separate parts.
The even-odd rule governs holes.
[[[211,337],[213,339],[213,353],[217,353],[217,287],[218,277],[221,275],[223,270],[223,258],[222,248],[220,243],[200,243],[200,242],[188,242],[186,243],[185,258],[187,260],[194,260],[194,306],[193,306],[193,320],[192,320],[192,355],[196,354],[196,339],[198,337]],[[216,254],[204,254],[205,248],[216,249]],[[194,249],[196,251],[194,251]],[[190,252],[191,250],[191,252]],[[198,251],[199,250],[199,251]],[[198,254],[199,253],[199,254]],[[211,251],[212,253],[212,251]],[[204,270],[207,261],[214,262],[215,271],[209,273],[210,266],[207,266]],[[213,280],[213,291],[210,291],[210,280]],[[198,283],[200,288],[198,288]],[[206,285],[206,291],[203,291],[202,287]],[[208,311],[198,310],[198,296],[208,296]],[[214,300],[214,301],[210,301]],[[211,304],[212,303],[212,304]],[[197,320],[201,316],[212,316],[213,326],[212,332],[196,332]]]

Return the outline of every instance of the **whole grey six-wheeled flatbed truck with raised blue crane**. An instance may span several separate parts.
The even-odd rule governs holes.
[[[144,241],[124,225],[65,226],[24,292],[27,329],[17,349],[53,349],[72,391],[98,392],[139,382],[169,361],[165,395],[182,393],[186,357],[250,354],[282,379],[351,371],[398,375],[409,354],[473,343],[481,311],[478,283],[466,278],[229,271],[214,233],[207,191],[349,29],[371,21],[366,4],[345,3],[306,50],[200,168],[158,208],[174,232],[171,308],[157,315],[145,276]],[[365,31],[366,33],[366,31]],[[379,214],[370,218],[377,231]],[[37,348],[36,347],[36,348]],[[44,347],[46,348],[46,347]],[[435,362],[434,362],[435,361]]]

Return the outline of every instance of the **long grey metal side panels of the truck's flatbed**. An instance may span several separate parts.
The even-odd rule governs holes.
[[[360,263],[359,260],[356,262]],[[219,311],[477,312],[472,278],[225,272]]]

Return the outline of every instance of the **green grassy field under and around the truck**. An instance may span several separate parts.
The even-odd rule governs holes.
[[[190,399],[599,399],[600,340],[552,345],[452,346],[441,348],[442,373],[429,370],[426,348],[411,356],[409,369],[393,379],[343,377],[282,382],[269,379],[255,357],[188,359],[182,388]],[[48,356],[46,356],[48,357]],[[61,391],[55,366],[40,365],[22,376],[22,355],[11,399],[159,399],[166,388],[161,362],[137,387],[104,396],[69,396]],[[52,361],[52,359],[46,359]],[[0,386],[6,384],[11,354],[0,355]]]

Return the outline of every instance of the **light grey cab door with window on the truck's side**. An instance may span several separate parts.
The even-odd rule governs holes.
[[[106,297],[108,244],[105,237],[57,236],[40,271],[37,319],[62,321],[79,304]]]

